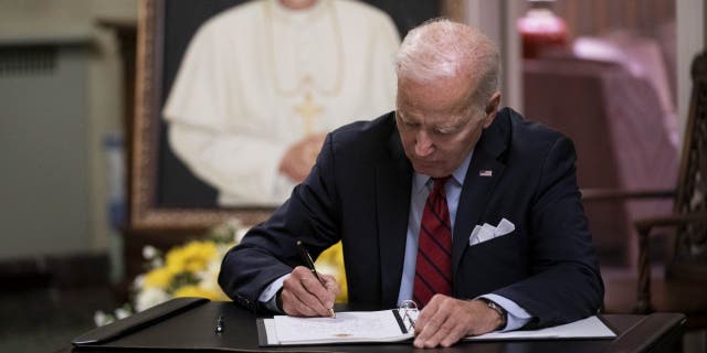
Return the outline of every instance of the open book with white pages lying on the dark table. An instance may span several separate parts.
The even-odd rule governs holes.
[[[416,310],[337,312],[331,318],[293,318],[275,315],[257,319],[258,342],[268,345],[312,345],[399,342],[412,340]],[[549,339],[613,339],[616,334],[598,317],[572,323],[529,331],[490,332],[464,340],[549,340]]]

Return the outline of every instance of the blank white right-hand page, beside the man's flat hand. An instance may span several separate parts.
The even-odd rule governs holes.
[[[540,330],[490,332],[476,336],[467,336],[464,340],[613,339],[615,336],[616,334],[599,320],[599,318],[589,317],[579,321]]]

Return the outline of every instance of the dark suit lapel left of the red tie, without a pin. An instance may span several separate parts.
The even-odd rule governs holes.
[[[400,291],[412,188],[412,167],[395,129],[389,151],[391,159],[381,159],[376,170],[381,303],[386,308],[395,306]]]

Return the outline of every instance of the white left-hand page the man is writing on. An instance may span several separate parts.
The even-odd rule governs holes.
[[[273,321],[281,344],[392,342],[412,338],[412,333],[401,332],[391,310],[337,312],[336,319],[275,315]]]

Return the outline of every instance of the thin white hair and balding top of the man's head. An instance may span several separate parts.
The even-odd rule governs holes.
[[[433,19],[412,29],[395,55],[398,79],[431,83],[467,75],[477,83],[475,104],[485,104],[498,89],[496,44],[482,32],[447,19]]]

